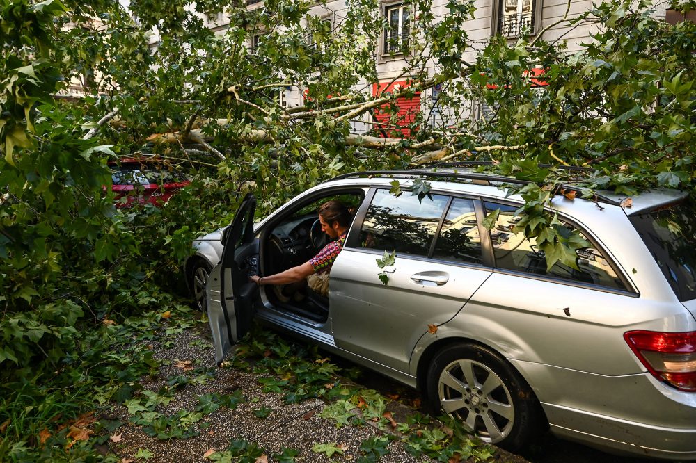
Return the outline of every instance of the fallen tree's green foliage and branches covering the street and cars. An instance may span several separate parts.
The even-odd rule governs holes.
[[[395,79],[409,86],[373,95],[379,2],[347,1],[333,29],[312,14],[316,6],[0,1],[3,395],[48,372],[79,382],[86,332],[180,302],[191,239],[229,222],[246,190],[266,213],[342,172],[490,161],[532,182],[518,190],[525,223],[534,224],[525,232],[560,260],[576,242],[555,232],[548,213],[561,184],[590,195],[654,186],[694,193],[690,22],[672,26],[644,1],[614,0],[564,19],[592,24],[580,51],[539,34],[493,38],[473,56],[465,26],[473,2],[452,0],[436,15],[430,0],[413,0]],[[229,24],[215,33],[205,18],[219,13]],[[531,69],[544,72],[532,79]],[[71,81],[86,95],[56,97]],[[397,99],[436,84],[443,120],[430,123],[427,98],[415,120],[399,120]],[[287,88],[303,92],[303,106],[281,104]],[[470,117],[472,102],[491,114]],[[375,111],[393,117],[354,133]],[[390,138],[401,129],[411,137]],[[107,163],[143,151],[190,170],[193,184],[160,209],[116,209]]]

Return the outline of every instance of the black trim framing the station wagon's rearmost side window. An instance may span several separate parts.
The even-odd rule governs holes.
[[[483,206],[483,203],[486,201],[493,202],[496,204],[504,204],[506,206],[513,206],[516,208],[519,208],[521,206],[521,204],[519,204],[519,203],[509,201],[509,200],[501,200],[500,198],[496,198],[496,197],[481,197],[480,199],[481,199],[481,207],[482,207],[482,209],[484,209],[483,212],[485,212],[485,208]],[[551,210],[547,209],[547,211],[551,211]],[[557,212],[557,211],[555,211],[555,212]],[[486,230],[485,234],[487,235],[487,245],[489,246],[489,252],[491,253],[491,256],[493,257],[493,271],[495,273],[514,274],[517,276],[530,278],[530,279],[539,279],[539,280],[543,280],[543,281],[557,282],[559,284],[565,284],[568,286],[580,286],[583,288],[595,289],[595,290],[603,291],[606,293],[631,295],[631,296],[635,296],[635,297],[638,297],[640,295],[640,292],[635,288],[635,285],[633,284],[631,279],[626,277],[626,273],[624,272],[624,269],[621,268],[619,265],[617,265],[612,254],[610,254],[609,252],[606,251],[606,247],[601,245],[599,240],[597,240],[593,234],[591,234],[590,232],[587,231],[587,227],[583,227],[583,225],[581,225],[577,220],[574,220],[573,218],[569,218],[568,216],[564,215],[563,213],[558,213],[558,216],[564,222],[567,222],[570,225],[572,225],[573,227],[575,227],[576,229],[578,229],[580,231],[580,233],[582,233],[585,236],[585,238],[587,238],[587,241],[590,241],[590,243],[592,243],[592,245],[597,250],[599,250],[601,252],[602,256],[609,263],[609,266],[612,268],[612,270],[614,270],[614,273],[616,273],[617,277],[619,277],[619,279],[624,284],[626,289],[615,289],[615,288],[610,288],[608,286],[601,286],[598,284],[576,282],[576,281],[571,280],[571,279],[562,279],[562,278],[557,278],[557,277],[548,276],[548,275],[532,275],[530,273],[520,272],[517,270],[510,270],[507,268],[496,267],[495,253],[493,252],[493,243],[491,242],[491,239],[490,239],[489,230],[487,230],[487,229],[485,229],[485,227],[483,227]],[[482,218],[484,218],[484,217],[485,217],[485,213],[482,216]]]

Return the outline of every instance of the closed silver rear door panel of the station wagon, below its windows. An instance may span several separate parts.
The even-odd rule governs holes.
[[[333,264],[334,341],[342,349],[406,372],[413,347],[428,332],[428,325],[447,323],[491,270],[397,256],[385,286],[378,277],[384,270],[377,266],[379,257],[344,249]],[[419,274],[440,281],[443,275],[447,278],[441,284],[414,281]]]

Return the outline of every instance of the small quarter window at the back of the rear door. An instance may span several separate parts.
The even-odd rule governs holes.
[[[481,238],[472,200],[452,200],[435,242],[433,257],[445,261],[482,263]]]

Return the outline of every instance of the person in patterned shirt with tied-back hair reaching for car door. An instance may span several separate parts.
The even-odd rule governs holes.
[[[325,202],[319,206],[319,222],[322,224],[322,232],[334,241],[324,246],[319,254],[302,265],[266,277],[253,275],[251,281],[262,286],[296,283],[306,278],[312,291],[323,296],[329,295],[329,270],[338,257],[338,253],[343,249],[351,219],[352,214],[348,206],[342,202],[338,200]]]

